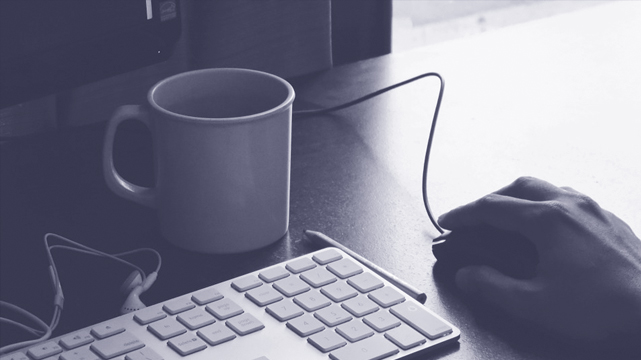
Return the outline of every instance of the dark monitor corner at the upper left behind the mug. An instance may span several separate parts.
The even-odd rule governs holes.
[[[0,107],[166,60],[178,0],[1,0]]]

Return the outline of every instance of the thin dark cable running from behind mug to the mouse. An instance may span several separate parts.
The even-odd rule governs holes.
[[[443,234],[443,233],[445,233],[445,230],[436,221],[436,218],[434,217],[434,215],[432,214],[432,210],[430,209],[429,200],[427,199],[427,168],[428,168],[428,165],[429,165],[430,153],[432,151],[432,140],[434,138],[434,132],[435,132],[435,129],[436,129],[436,120],[438,119],[438,113],[439,113],[439,111],[441,109],[441,100],[443,99],[443,91],[444,91],[444,88],[445,88],[445,82],[443,81],[443,78],[441,77],[441,75],[439,75],[438,73],[435,73],[435,72],[424,73],[424,74],[415,76],[413,78],[410,78],[410,79],[398,82],[396,84],[390,85],[388,87],[384,87],[382,89],[376,90],[376,91],[374,91],[372,93],[369,93],[367,95],[361,96],[361,97],[359,97],[357,99],[354,99],[352,101],[348,101],[348,102],[346,102],[344,104],[332,106],[332,107],[325,108],[325,109],[295,110],[292,113],[293,113],[293,115],[296,115],[296,116],[305,116],[306,117],[306,116],[321,115],[321,114],[326,114],[326,113],[329,113],[329,112],[342,110],[342,109],[348,108],[350,106],[354,106],[356,104],[360,104],[365,100],[369,100],[369,99],[371,99],[373,97],[376,97],[378,95],[386,93],[386,92],[388,92],[390,90],[396,89],[398,87],[401,87],[403,85],[407,85],[407,84],[409,84],[411,82],[414,82],[416,80],[420,80],[420,79],[423,79],[423,78],[426,78],[426,77],[436,77],[436,78],[438,78],[439,79],[439,83],[440,83],[440,88],[439,88],[439,91],[438,91],[438,98],[436,100],[436,106],[434,107],[434,114],[433,114],[433,117],[432,117],[432,125],[430,127],[429,136],[427,138],[427,149],[425,150],[425,160],[423,162],[423,186],[422,186],[423,205],[425,206],[425,211],[427,212],[427,216],[429,217],[430,221],[432,222],[432,225],[434,225],[436,230],[438,230],[441,234]]]

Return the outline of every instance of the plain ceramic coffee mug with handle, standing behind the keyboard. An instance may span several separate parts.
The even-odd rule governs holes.
[[[103,170],[116,194],[157,210],[161,235],[205,253],[237,253],[281,238],[289,223],[294,89],[245,69],[205,69],[169,77],[145,106],[116,110],[107,125]],[[151,131],[156,183],[123,179],[113,163],[118,124]]]

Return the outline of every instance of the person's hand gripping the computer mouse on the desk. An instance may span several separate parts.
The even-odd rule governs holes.
[[[439,223],[451,230],[487,224],[515,231],[538,251],[532,279],[488,266],[458,270],[456,284],[468,296],[579,340],[641,339],[641,240],[586,195],[523,177]]]

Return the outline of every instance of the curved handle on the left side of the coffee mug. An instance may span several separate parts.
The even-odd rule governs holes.
[[[111,119],[107,123],[107,130],[105,134],[105,143],[102,148],[102,172],[107,182],[107,187],[114,193],[127,200],[137,202],[139,204],[156,207],[156,191],[154,188],[148,188],[130,183],[118,174],[114,167],[113,148],[114,137],[118,125],[125,120],[138,120],[145,124],[147,128],[151,129],[149,121],[149,114],[140,105],[124,105],[120,106],[114,112]]]

